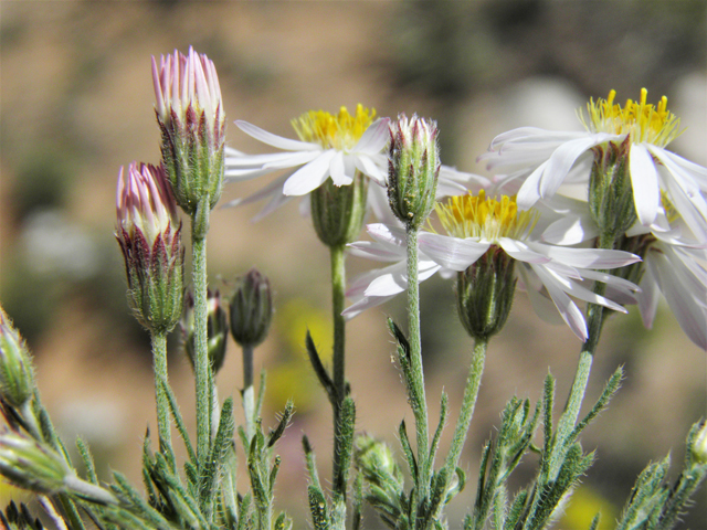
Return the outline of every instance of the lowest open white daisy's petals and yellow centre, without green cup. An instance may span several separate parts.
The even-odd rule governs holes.
[[[531,234],[538,212],[518,211],[515,198],[504,195],[496,200],[486,198],[482,191],[478,195],[453,197],[446,204],[437,204],[436,211],[447,235],[419,233],[421,269],[425,267],[425,278],[435,272],[464,272],[487,252],[503,252],[516,262],[516,272],[531,299],[540,294],[549,297],[562,319],[582,340],[588,337],[587,324],[572,297],[626,312],[615,301],[580,285],[582,280],[604,282],[615,293],[622,294],[622,298],[635,300],[635,285],[597,271],[635,263],[640,261],[639,256],[621,251],[567,248],[534,241]],[[369,225],[368,230],[376,243],[354,243],[350,246],[359,254],[368,251],[380,259],[392,261],[400,256],[400,263],[357,278],[348,293],[355,304],[344,311],[346,315],[356,315],[381,303],[380,297],[388,299],[407,288],[404,233],[398,234],[380,225]],[[535,307],[541,305],[534,304]]]

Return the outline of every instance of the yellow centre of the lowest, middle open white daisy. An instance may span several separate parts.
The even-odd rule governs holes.
[[[534,209],[519,212],[515,195],[496,200],[487,198],[484,190],[478,195],[452,197],[445,204],[437,203],[435,210],[449,235],[492,242],[499,237],[524,239],[539,216]]]

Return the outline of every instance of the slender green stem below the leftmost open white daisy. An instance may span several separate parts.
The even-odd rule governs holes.
[[[346,293],[346,263],[344,245],[329,247],[331,261],[331,316],[334,319],[334,486],[335,495],[346,499],[347,469],[341,469],[341,404],[346,398],[346,320],[341,316]]]

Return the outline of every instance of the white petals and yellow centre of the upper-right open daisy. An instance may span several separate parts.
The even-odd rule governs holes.
[[[667,110],[667,98],[657,106],[629,99],[622,108],[614,104],[615,92],[606,99],[591,100],[588,116],[580,113],[584,132],[549,131],[521,127],[497,136],[490,152],[479,159],[488,168],[503,170],[507,179],[524,179],[518,206],[528,209],[540,199],[555,195],[566,182],[588,182],[594,159],[592,149],[608,142],[627,156],[633,199],[639,221],[651,225],[667,193],[693,232],[707,239],[707,168],[666,149],[679,135],[679,119]]]

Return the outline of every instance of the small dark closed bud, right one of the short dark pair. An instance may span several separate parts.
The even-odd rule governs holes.
[[[255,268],[239,278],[231,298],[231,333],[243,348],[253,348],[267,337],[273,319],[270,282]]]

